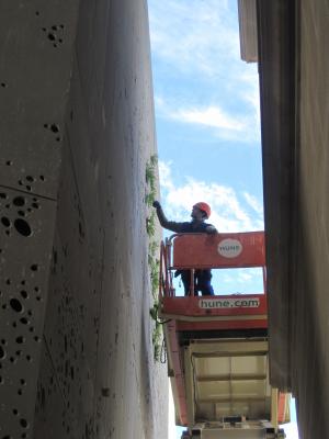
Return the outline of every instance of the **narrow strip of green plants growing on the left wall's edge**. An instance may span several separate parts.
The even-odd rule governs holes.
[[[158,165],[158,157],[151,156],[149,161],[146,164],[145,180],[146,180],[146,194],[145,203],[148,207],[151,207],[157,196],[157,177],[156,169]],[[156,214],[151,211],[146,218],[146,233],[149,237],[148,245],[148,267],[150,273],[150,285],[154,306],[150,308],[150,316],[155,320],[155,327],[152,330],[152,344],[154,344],[154,357],[156,361],[160,360],[161,354],[161,340],[162,340],[162,327],[158,322],[158,290],[159,290],[159,264],[160,261],[157,259],[157,250],[159,248],[158,243],[155,239],[156,235]]]

